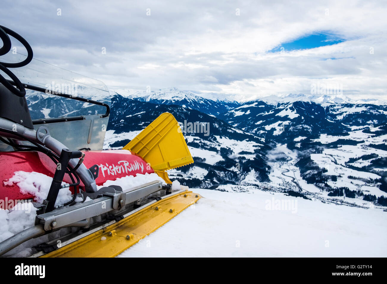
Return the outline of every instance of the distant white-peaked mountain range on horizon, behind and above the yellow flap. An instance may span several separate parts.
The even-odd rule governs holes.
[[[151,102],[154,104],[180,105],[187,109],[196,109],[212,116],[233,109],[240,105],[236,101],[227,100],[215,94],[195,94],[177,88],[166,88],[150,92],[136,92],[128,96],[140,102]]]

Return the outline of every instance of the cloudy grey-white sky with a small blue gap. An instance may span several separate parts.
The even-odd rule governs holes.
[[[0,24],[24,36],[35,58],[110,90],[250,99],[310,94],[319,83],[353,99],[387,98],[384,0],[2,0]]]

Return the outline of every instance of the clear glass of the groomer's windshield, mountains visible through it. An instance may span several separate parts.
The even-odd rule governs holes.
[[[1,61],[15,63],[23,61],[25,55],[9,52],[2,56]],[[109,90],[106,85],[96,79],[65,70],[63,68],[33,59],[28,65],[20,68],[10,68],[24,84],[44,88],[46,92],[68,94],[72,97],[103,102],[111,105]],[[10,79],[4,74],[4,77]],[[54,117],[84,116],[89,114],[104,114],[106,107],[74,99],[55,96],[43,92],[26,89],[26,99],[32,119],[47,119]]]

